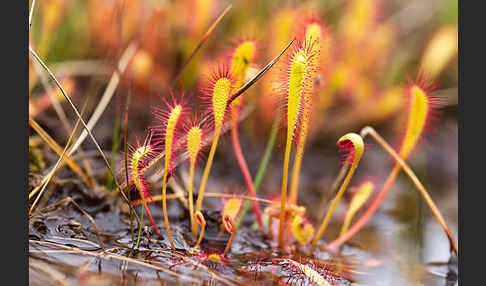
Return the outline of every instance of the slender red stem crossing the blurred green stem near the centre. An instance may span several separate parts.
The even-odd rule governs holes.
[[[260,206],[258,202],[255,200],[256,194],[255,189],[253,188],[253,180],[251,179],[250,171],[248,170],[248,165],[246,164],[245,157],[243,156],[243,152],[241,151],[240,146],[240,139],[238,136],[238,113],[239,111],[233,110],[232,111],[232,128],[231,128],[231,141],[233,143],[233,150],[235,151],[236,159],[238,160],[238,165],[240,165],[241,172],[243,173],[243,177],[245,178],[246,187],[248,192],[250,193],[250,197],[253,198],[253,210],[255,211],[255,216],[257,218],[258,225],[261,229],[263,229],[263,220],[262,220],[262,213],[260,211]]]

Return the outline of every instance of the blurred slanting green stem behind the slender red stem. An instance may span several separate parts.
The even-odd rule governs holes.
[[[272,124],[272,130],[270,131],[270,138],[268,139],[267,146],[265,147],[265,153],[263,154],[262,161],[260,162],[260,166],[258,167],[258,172],[255,177],[255,181],[253,182],[253,188],[255,189],[255,194],[258,192],[258,188],[260,187],[260,183],[262,182],[263,175],[267,170],[268,162],[270,161],[270,157],[272,156],[273,148],[275,147],[275,141],[277,139],[278,134],[278,126],[280,122],[280,113],[275,116],[275,119]],[[246,200],[243,209],[241,210],[240,216],[236,222],[236,228],[240,226],[245,218],[248,209],[251,206],[251,201]]]

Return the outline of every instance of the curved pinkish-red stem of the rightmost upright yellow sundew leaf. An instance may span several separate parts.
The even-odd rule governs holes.
[[[399,164],[395,164],[395,167],[393,168],[392,172],[388,176],[388,179],[385,182],[385,185],[381,189],[380,193],[378,196],[375,198],[371,206],[366,210],[366,212],[359,218],[359,220],[350,228],[348,229],[347,232],[345,232],[343,235],[341,235],[339,238],[336,240],[332,241],[330,244],[327,245],[327,248],[336,248],[349,240],[353,235],[355,235],[363,226],[368,222],[368,220],[371,218],[371,216],[375,213],[376,209],[378,206],[380,206],[381,202],[385,198],[386,194],[388,191],[390,191],[391,186],[393,185],[393,182],[395,182],[395,179],[400,172],[401,166]]]

